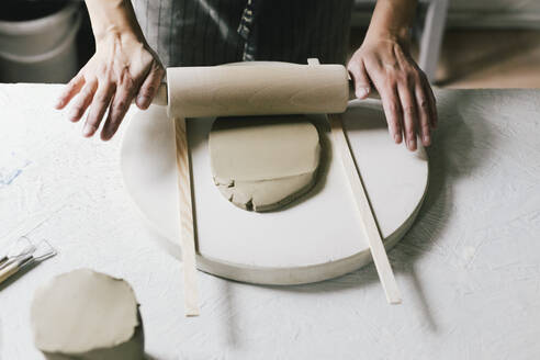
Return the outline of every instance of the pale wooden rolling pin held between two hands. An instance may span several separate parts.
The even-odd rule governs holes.
[[[154,99],[170,117],[342,113],[342,65],[235,65],[167,69]]]

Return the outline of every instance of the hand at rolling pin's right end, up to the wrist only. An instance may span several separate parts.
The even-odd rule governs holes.
[[[376,89],[396,144],[405,137],[409,150],[416,150],[416,137],[424,146],[431,143],[437,126],[435,97],[424,72],[405,44],[393,36],[369,36],[352,55],[348,66],[358,99]]]

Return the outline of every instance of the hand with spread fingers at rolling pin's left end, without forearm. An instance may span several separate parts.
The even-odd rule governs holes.
[[[144,40],[109,32],[97,41],[95,54],[65,87],[56,109],[72,102],[68,115],[72,122],[78,122],[89,109],[82,128],[86,137],[98,131],[109,109],[101,130],[101,138],[108,140],[116,133],[133,99],[140,109],[149,106],[164,75],[157,55]]]

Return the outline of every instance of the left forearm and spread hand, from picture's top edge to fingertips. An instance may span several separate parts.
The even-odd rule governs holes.
[[[130,0],[86,0],[86,3],[95,54],[66,86],[56,109],[72,100],[69,112],[72,122],[78,122],[89,109],[82,134],[90,137],[109,108],[101,131],[101,138],[106,140],[119,128],[133,99],[140,109],[149,106],[165,70],[146,43]]]

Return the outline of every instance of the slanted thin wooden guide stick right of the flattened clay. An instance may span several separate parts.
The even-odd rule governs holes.
[[[345,173],[349,180],[349,185],[360,213],[362,227],[365,237],[368,238],[371,256],[373,257],[379,279],[381,280],[381,284],[386,295],[386,301],[390,304],[400,304],[402,302],[400,290],[397,289],[394,273],[392,272],[392,267],[390,266],[386,250],[384,249],[381,233],[379,232],[365,189],[363,188],[360,171],[352,158],[349,143],[344,132],[341,115],[329,114],[328,116],[330,120],[334,143],[341,155],[341,164],[344,165]]]

